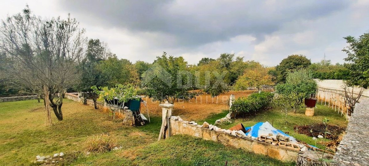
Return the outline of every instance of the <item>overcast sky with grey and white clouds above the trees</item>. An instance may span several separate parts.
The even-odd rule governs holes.
[[[43,17],[70,13],[131,62],[165,51],[189,64],[224,52],[268,66],[292,54],[343,63],[342,37],[369,30],[369,0],[2,0],[0,18],[26,4]]]

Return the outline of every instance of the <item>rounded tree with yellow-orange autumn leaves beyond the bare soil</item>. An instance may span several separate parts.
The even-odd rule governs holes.
[[[269,69],[260,64],[255,68],[246,69],[244,74],[238,77],[235,89],[246,90],[248,87],[256,87],[260,91],[262,85],[274,84],[268,71]]]

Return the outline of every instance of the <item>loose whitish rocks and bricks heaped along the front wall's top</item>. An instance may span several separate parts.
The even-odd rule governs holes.
[[[229,116],[228,116],[229,115]],[[227,114],[227,117],[230,117],[230,114]],[[226,117],[226,118],[227,118]],[[179,116],[172,116],[170,117],[172,120],[177,120],[183,123],[187,123],[187,124],[192,124],[194,126],[198,126],[198,127],[203,127],[203,128],[208,128],[210,130],[214,130],[217,132],[224,132],[226,134],[230,134],[233,136],[238,136],[240,138],[244,138],[244,139],[251,139],[254,141],[260,141],[260,142],[265,142],[265,143],[270,143],[274,146],[281,146],[284,148],[289,148],[289,149],[293,149],[296,151],[307,151],[307,147],[299,142],[295,142],[295,141],[290,141],[289,137],[282,135],[282,134],[277,134],[277,135],[273,135],[273,134],[268,134],[268,135],[261,135],[259,137],[251,137],[245,134],[244,131],[242,130],[230,130],[230,129],[222,129],[220,127],[217,127],[216,125],[211,125],[208,122],[204,122],[203,125],[199,125],[194,121],[184,121],[181,117]],[[223,119],[223,118],[222,118]]]

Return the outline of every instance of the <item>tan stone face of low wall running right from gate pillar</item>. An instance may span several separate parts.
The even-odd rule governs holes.
[[[175,116],[169,118],[169,125],[170,135],[192,135],[205,140],[220,142],[226,146],[233,146],[235,148],[241,148],[245,151],[267,155],[282,161],[294,161],[299,153],[297,150],[284,148],[278,145],[274,146],[270,143],[255,141],[245,136],[243,136],[244,138],[241,138],[240,136],[242,135],[238,136],[238,134],[227,134],[226,132],[215,131],[210,128],[205,128],[202,125],[197,125],[195,122],[183,121],[179,117]]]

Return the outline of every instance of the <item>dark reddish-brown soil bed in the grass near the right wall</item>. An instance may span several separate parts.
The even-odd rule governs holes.
[[[315,136],[323,135],[325,132],[325,125],[323,123],[317,123],[312,125],[295,125],[294,130],[300,134],[305,134],[307,136]],[[312,131],[312,132],[311,132]],[[327,138],[331,140],[337,140],[339,135],[345,131],[345,128],[339,127],[337,125],[328,125],[328,134]]]

